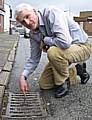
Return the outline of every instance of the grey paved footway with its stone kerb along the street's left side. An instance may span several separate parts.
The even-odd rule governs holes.
[[[0,33],[0,111],[5,88],[13,68],[19,35]]]

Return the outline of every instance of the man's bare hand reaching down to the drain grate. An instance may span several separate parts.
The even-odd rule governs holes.
[[[25,76],[21,76],[20,80],[19,80],[19,85],[20,85],[20,89],[23,93],[27,92],[29,87],[28,87],[28,82],[27,80],[25,80]]]

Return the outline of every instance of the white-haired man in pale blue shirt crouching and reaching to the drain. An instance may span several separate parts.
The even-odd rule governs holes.
[[[39,86],[42,89],[55,88],[56,98],[65,96],[70,86],[69,65],[87,60],[90,56],[87,34],[56,7],[36,10],[23,3],[16,7],[15,18],[30,29],[31,55],[19,80],[22,92],[28,90],[27,78],[37,67],[44,51],[49,62],[39,79]]]

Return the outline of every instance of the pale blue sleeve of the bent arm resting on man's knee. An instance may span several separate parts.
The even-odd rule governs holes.
[[[49,46],[55,45],[60,48],[68,48],[72,43],[72,37],[70,36],[68,21],[64,12],[58,9],[49,10],[47,21],[52,36],[46,36],[44,43]]]

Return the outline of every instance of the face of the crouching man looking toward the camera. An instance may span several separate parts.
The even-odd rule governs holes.
[[[32,30],[35,30],[38,27],[38,16],[34,9],[31,11],[24,9],[18,14],[16,20]]]

